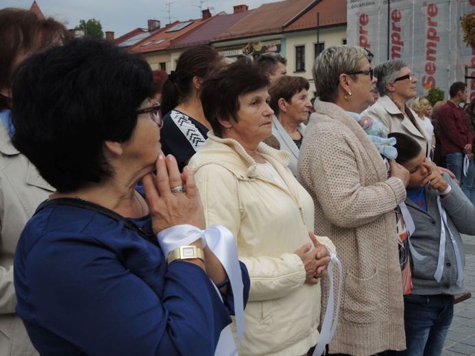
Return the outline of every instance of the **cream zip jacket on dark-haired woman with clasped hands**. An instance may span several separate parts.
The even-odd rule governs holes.
[[[207,225],[230,229],[251,277],[239,355],[304,355],[319,338],[320,285],[304,283],[304,264],[293,252],[310,242],[313,201],[287,168],[288,152],[263,143],[258,152],[289,190],[260,175],[238,142],[212,131],[189,166]],[[334,252],[328,238],[317,239]]]

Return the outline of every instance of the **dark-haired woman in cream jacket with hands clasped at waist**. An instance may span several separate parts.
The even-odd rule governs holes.
[[[262,142],[272,133],[268,85],[246,58],[210,75],[201,99],[213,131],[189,166],[207,225],[230,229],[251,277],[239,355],[307,355],[330,262],[322,244],[334,246],[309,232],[313,202],[287,167],[290,154]]]

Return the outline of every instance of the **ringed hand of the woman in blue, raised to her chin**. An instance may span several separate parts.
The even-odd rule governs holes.
[[[149,173],[142,179],[154,233],[182,224],[204,229],[203,205],[191,169],[185,166],[180,175],[175,157],[162,154],[158,155],[156,168],[156,176]],[[171,191],[180,186],[186,193]]]

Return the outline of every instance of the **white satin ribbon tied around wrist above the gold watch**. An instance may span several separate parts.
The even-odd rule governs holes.
[[[180,246],[191,244],[199,239],[202,240],[203,247],[206,246],[206,244],[208,245],[208,248],[215,253],[219,262],[223,265],[224,270],[226,270],[228,274],[232,294],[234,295],[234,313],[236,316],[238,345],[236,346],[234,343],[231,327],[228,325],[221,331],[215,355],[237,355],[239,344],[241,343],[244,333],[244,286],[236,242],[231,231],[220,225],[212,225],[204,231],[193,225],[175,225],[157,234],[157,240],[162,248],[163,255],[165,255],[165,259],[167,259],[171,251],[178,249]],[[222,300],[221,293],[216,288],[216,285],[215,290]]]

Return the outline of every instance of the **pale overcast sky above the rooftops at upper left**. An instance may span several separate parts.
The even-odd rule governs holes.
[[[215,14],[221,11],[232,14],[233,5],[245,4],[251,10],[276,1],[202,0],[201,5],[203,10],[215,8],[212,10]],[[0,7],[29,9],[32,3],[33,0],[1,0]],[[103,31],[114,31],[116,38],[137,27],[147,27],[150,18],[160,20],[165,26],[169,23],[169,16],[171,22],[201,17],[200,0],[37,0],[36,3],[45,16],[66,23],[69,29],[77,26],[80,20],[95,18],[101,21]]]

